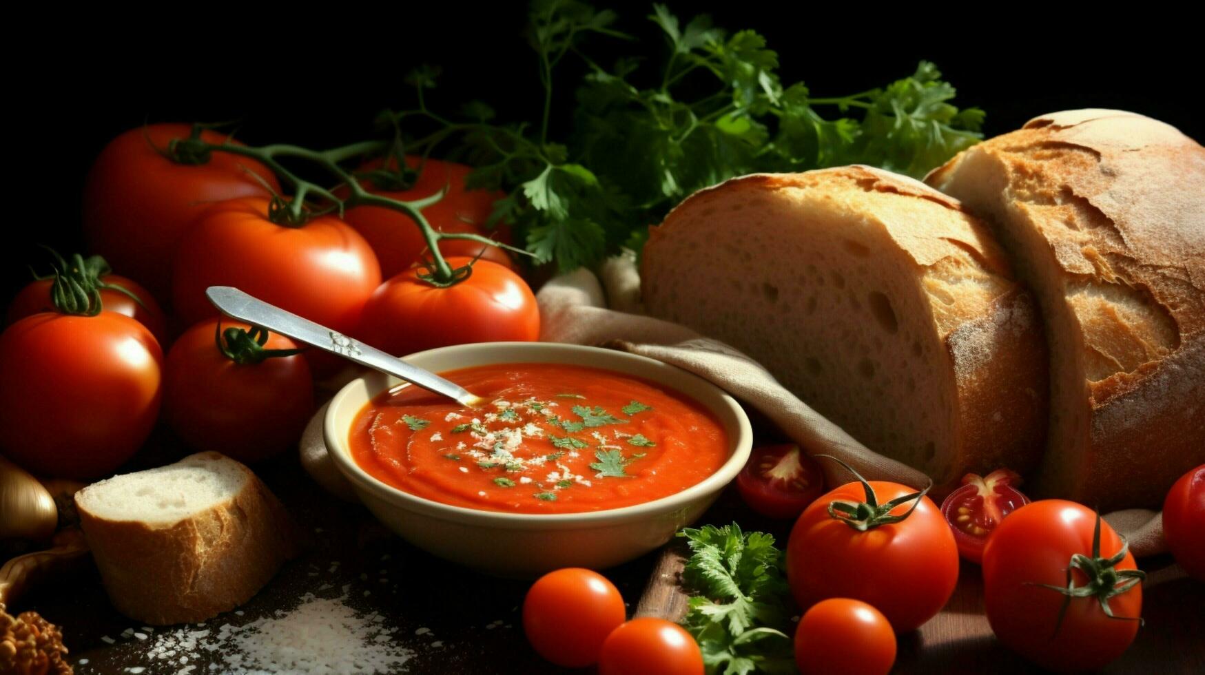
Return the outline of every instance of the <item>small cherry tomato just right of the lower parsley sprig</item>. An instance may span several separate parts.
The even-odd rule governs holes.
[[[895,633],[883,612],[862,600],[821,600],[795,628],[795,663],[804,675],[887,675]]]

